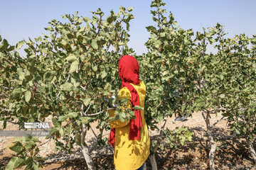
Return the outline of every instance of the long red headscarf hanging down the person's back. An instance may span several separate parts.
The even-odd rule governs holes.
[[[131,84],[139,84],[139,64],[137,60],[130,56],[124,55],[119,60],[118,65],[119,77],[122,79],[122,87],[126,86],[131,93],[131,103],[132,108],[134,106],[139,106],[139,94],[137,93],[134,86]],[[129,131],[129,140],[139,140],[140,139],[140,128],[142,127],[142,116],[139,110],[134,111],[136,119],[130,120],[131,128]],[[109,143],[114,147],[114,128],[110,131]]]

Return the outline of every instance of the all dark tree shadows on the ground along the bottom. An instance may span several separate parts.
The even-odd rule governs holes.
[[[156,151],[156,162],[160,170],[208,169],[210,146],[207,141],[206,130],[200,127],[190,128],[190,130],[193,132],[193,142],[186,142],[185,145],[178,146],[177,149],[166,146],[164,150],[158,149]],[[218,149],[215,152],[216,169],[256,169],[250,158],[245,140],[238,140],[223,128],[214,128],[213,136],[218,143]],[[256,148],[255,142],[254,147]],[[0,158],[0,167],[3,169],[11,159],[11,154],[3,157],[3,152],[0,152]],[[114,169],[113,154],[102,154],[92,159],[96,169]],[[50,162],[43,164],[43,166],[43,169],[86,169],[83,158]],[[147,170],[151,170],[149,159],[146,160],[146,166]]]

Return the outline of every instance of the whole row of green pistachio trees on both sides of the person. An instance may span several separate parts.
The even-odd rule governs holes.
[[[256,36],[245,34],[226,38],[223,26],[203,28],[203,33],[177,26],[173,14],[167,13],[164,2],[151,2],[151,14],[156,23],[148,26],[148,52],[137,57],[140,74],[146,83],[145,117],[150,128],[161,123],[158,139],[151,140],[149,157],[157,169],[154,154],[164,145],[177,147],[191,141],[188,128],[174,131],[165,128],[169,117],[200,111],[210,142],[210,169],[214,167],[215,137],[210,124],[212,113],[228,118],[230,130],[245,138],[256,162],[252,145],[256,128],[255,45]],[[120,7],[118,13],[105,17],[100,8],[92,18],[65,15],[67,23],[49,22],[48,35],[22,40],[15,46],[0,37],[0,120],[13,122],[44,121],[53,116],[51,135],[58,149],[79,145],[88,169],[95,169],[90,153],[97,145],[106,144],[102,132],[110,130],[105,98],[117,94],[121,81],[118,61],[122,55],[134,55],[127,46],[132,8]],[[18,51],[24,44],[26,57]],[[206,52],[212,45],[216,54]],[[117,101],[112,101],[117,102]],[[131,115],[117,114],[124,120]],[[90,123],[98,122],[97,142],[87,145],[85,136]],[[65,123],[64,123],[65,122]],[[66,141],[65,145],[59,141]],[[35,137],[23,137],[10,149],[17,152],[6,169],[26,165],[38,169],[43,162],[38,157]]]

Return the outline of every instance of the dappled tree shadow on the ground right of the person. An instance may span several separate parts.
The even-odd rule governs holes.
[[[208,169],[208,153],[210,144],[207,132],[201,127],[190,128],[193,141],[172,149],[157,149],[155,157],[161,169]],[[213,137],[218,145],[215,151],[216,169],[253,169],[253,160],[247,149],[245,140],[239,140],[224,128],[213,128]],[[154,139],[157,136],[154,136]],[[255,144],[254,144],[255,145]],[[149,162],[150,164],[150,162]]]

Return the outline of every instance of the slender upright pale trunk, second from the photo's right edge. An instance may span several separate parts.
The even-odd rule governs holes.
[[[206,116],[204,115],[204,111],[202,111],[203,119],[206,121],[206,128],[207,128],[207,134],[208,134],[208,140],[210,142],[210,152],[209,152],[209,166],[210,170],[215,170],[215,165],[214,165],[214,156],[215,156],[215,150],[216,150],[216,145],[213,140],[213,134],[211,132],[211,127],[210,127],[210,112],[206,111]]]

